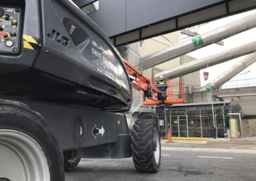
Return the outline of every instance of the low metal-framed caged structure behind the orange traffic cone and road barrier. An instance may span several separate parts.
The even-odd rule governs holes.
[[[227,133],[228,113],[234,106],[237,105],[230,101],[191,103],[159,107],[157,114],[159,119],[165,120],[164,126],[170,127],[172,136],[223,138]],[[164,130],[160,127],[163,137],[166,136]]]

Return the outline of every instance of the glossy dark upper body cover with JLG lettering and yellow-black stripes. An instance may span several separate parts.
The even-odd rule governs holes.
[[[13,45],[19,53],[9,55],[0,47],[2,94],[115,112],[129,110],[131,83],[120,54],[72,1],[8,3],[3,7],[20,10],[15,14],[19,22]]]

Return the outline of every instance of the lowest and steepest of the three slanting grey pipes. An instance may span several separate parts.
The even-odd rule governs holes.
[[[248,68],[251,64],[253,64],[256,61],[256,53],[250,54],[246,56],[243,60],[237,62],[234,66],[231,68],[228,68],[227,71],[222,73],[220,76],[218,76],[216,79],[212,80],[212,82],[207,83],[207,85],[211,86],[211,89],[217,89],[223,83],[230,80],[232,77],[243,71],[244,69]],[[207,86],[205,85],[205,86]],[[200,91],[205,90],[205,86],[200,89]]]

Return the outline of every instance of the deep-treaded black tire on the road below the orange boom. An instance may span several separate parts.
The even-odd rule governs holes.
[[[154,156],[153,132],[157,130],[154,120],[137,120],[132,128],[132,159],[137,171],[156,173],[161,164],[161,146],[159,147],[159,161]],[[160,138],[158,135],[160,144]]]

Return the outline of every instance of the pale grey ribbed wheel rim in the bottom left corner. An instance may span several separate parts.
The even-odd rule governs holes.
[[[12,181],[51,180],[44,151],[27,134],[10,129],[0,130],[0,152],[1,177]]]

